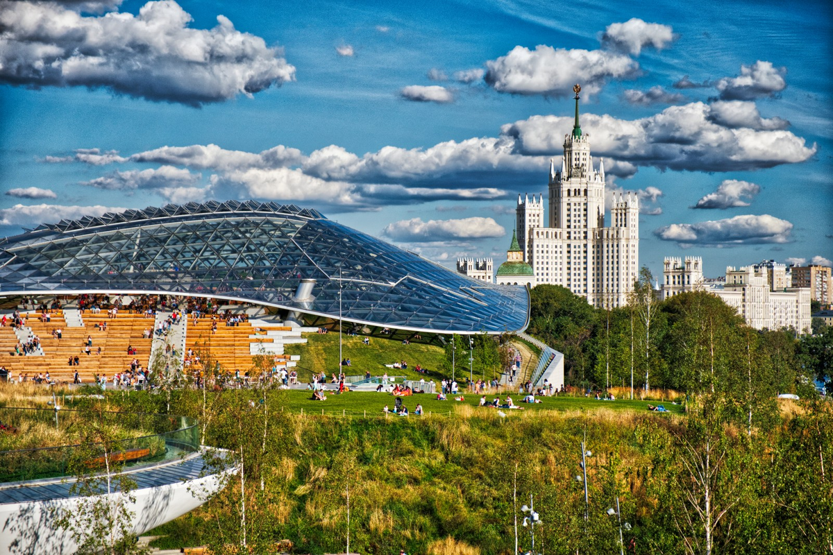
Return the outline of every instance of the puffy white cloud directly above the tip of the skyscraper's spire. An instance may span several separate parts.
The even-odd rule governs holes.
[[[586,95],[595,94],[607,79],[633,75],[639,64],[619,52],[538,45],[514,47],[486,68],[486,83],[497,92],[563,97],[576,83]]]

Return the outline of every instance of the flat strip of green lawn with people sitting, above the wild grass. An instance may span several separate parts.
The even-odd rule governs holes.
[[[343,394],[333,394],[332,392],[327,392],[327,400],[326,401],[313,401],[312,400],[312,392],[311,391],[287,391],[287,406],[293,412],[301,412],[302,410],[304,413],[312,413],[312,414],[321,414],[322,410],[324,414],[330,415],[341,415],[341,414],[349,414],[352,416],[362,416],[367,414],[367,416],[382,416],[382,408],[387,404],[388,409],[393,409],[393,404],[396,401],[396,397],[392,394],[385,394],[385,393],[376,393],[376,392],[366,392],[366,391],[350,391]],[[416,408],[416,404],[421,404],[422,409],[425,411],[426,414],[454,414],[455,408],[459,407],[460,405],[466,404],[473,407],[476,411],[494,411],[495,409],[488,409],[488,408],[479,408],[477,405],[480,402],[479,395],[465,395],[465,401],[454,401],[451,399],[451,396],[448,396],[450,400],[447,401],[437,401],[436,395],[431,394],[415,394],[412,397],[403,397],[402,404],[408,408],[409,412],[413,412]],[[559,397],[540,397],[536,399],[541,399],[541,403],[536,404],[526,404],[520,403],[522,396],[517,394],[511,395],[512,400],[515,401],[515,404],[521,405],[524,407],[524,410],[586,410],[586,411],[594,411],[597,409],[611,409],[611,410],[635,410],[635,411],[647,411],[648,404],[663,404],[666,409],[668,409],[672,414],[681,414],[682,407],[679,404],[671,404],[671,403],[661,403],[659,401],[630,401],[630,400],[619,400],[616,401],[596,401],[596,399],[587,399],[585,397],[569,397],[566,395],[561,395]],[[486,399],[491,401],[494,399],[494,395],[486,395]],[[506,394],[501,394],[501,400],[506,399]],[[507,414],[515,414],[520,413],[520,409],[502,409],[504,413]],[[666,413],[667,414],[667,413]],[[657,417],[662,417],[664,414],[657,413]]]

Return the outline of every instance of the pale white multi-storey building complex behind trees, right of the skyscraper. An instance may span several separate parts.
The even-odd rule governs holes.
[[[786,266],[773,260],[736,269],[726,268],[723,280],[703,278],[702,259],[666,258],[662,271],[661,298],[692,290],[706,290],[731,306],[756,330],[791,328],[811,330],[810,290],[791,287]]]

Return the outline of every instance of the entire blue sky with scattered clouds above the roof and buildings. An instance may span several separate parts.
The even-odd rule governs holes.
[[[255,198],[499,264],[579,82],[655,275],[833,259],[829,2],[22,1],[0,33],[4,235]]]

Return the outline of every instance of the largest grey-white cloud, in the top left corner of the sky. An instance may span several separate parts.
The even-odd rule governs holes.
[[[85,17],[55,2],[2,2],[0,82],[27,87],[103,87],[193,107],[252,95],[295,78],[277,47],[217,16],[193,29],[173,0],[138,15]]]

